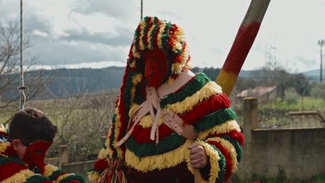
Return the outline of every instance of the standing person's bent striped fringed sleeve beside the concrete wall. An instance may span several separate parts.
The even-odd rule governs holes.
[[[230,107],[230,99],[215,82],[206,82],[197,94],[188,99],[195,101],[194,97],[202,99],[193,103],[182,118],[185,123],[194,125],[198,134],[196,143],[203,146],[208,155],[208,165],[201,169],[201,181],[225,182],[236,171],[242,157],[244,136],[235,121],[237,116]],[[194,173],[189,159],[188,168]]]

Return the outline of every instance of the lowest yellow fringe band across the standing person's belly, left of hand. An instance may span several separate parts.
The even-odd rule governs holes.
[[[162,155],[153,155],[148,157],[138,157],[131,150],[126,149],[125,162],[128,166],[141,172],[173,167],[185,161],[185,156],[188,153],[188,146],[192,143],[192,140],[187,140],[183,146],[175,150]]]

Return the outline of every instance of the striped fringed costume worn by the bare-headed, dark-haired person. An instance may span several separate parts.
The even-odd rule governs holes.
[[[74,173],[65,173],[56,166],[45,165],[34,168],[33,171],[19,159],[15,150],[10,146],[10,134],[0,132],[0,182],[1,183],[82,183],[85,179]],[[40,157],[38,157],[40,158]]]

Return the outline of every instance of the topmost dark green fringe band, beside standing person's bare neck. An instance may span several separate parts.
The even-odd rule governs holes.
[[[160,101],[160,106],[164,108],[168,104],[184,101],[185,98],[192,96],[197,91],[209,82],[210,79],[204,73],[199,73],[194,80],[186,83],[186,85],[179,92],[169,94],[166,98]]]

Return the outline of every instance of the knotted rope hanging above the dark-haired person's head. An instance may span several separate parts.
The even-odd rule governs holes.
[[[24,70],[23,70],[23,19],[22,19],[22,0],[20,0],[20,85],[18,87],[19,89],[19,96],[20,96],[20,105],[19,110],[24,109],[24,105],[26,102],[26,96],[24,93],[24,89],[26,87],[24,86]]]

